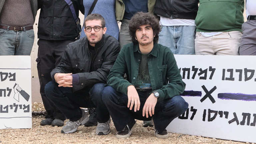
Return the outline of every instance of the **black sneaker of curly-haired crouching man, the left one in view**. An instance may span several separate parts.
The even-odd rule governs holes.
[[[130,137],[130,135],[131,135],[132,131],[135,129],[136,125],[137,124],[136,124],[135,121],[132,121],[131,123],[128,123],[122,131],[116,133],[116,137],[117,138],[128,138],[128,137]]]

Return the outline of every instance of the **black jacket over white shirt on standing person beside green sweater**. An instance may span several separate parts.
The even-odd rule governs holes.
[[[195,19],[199,0],[157,0],[154,13],[167,18]]]

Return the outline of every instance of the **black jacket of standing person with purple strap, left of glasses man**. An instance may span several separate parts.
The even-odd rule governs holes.
[[[71,0],[77,17],[84,14],[83,0]],[[73,14],[65,0],[38,0],[40,10],[38,38],[45,40],[71,40],[78,37],[81,25],[76,26]],[[80,21],[80,20],[79,20]]]

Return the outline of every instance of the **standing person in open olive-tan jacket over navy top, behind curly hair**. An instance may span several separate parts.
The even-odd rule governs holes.
[[[119,33],[119,42],[121,48],[132,43],[131,36],[128,31],[128,24],[131,17],[137,12],[150,12],[153,14],[155,10],[156,0],[116,0],[116,20],[121,21]]]

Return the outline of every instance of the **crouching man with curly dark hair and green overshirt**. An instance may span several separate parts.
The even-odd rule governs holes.
[[[128,138],[134,119],[152,120],[157,138],[168,138],[166,127],[188,108],[180,96],[185,89],[171,50],[157,43],[159,21],[150,13],[131,18],[130,44],[124,45],[102,92],[115,124],[117,138]],[[127,80],[124,79],[127,74]]]

